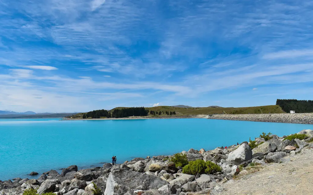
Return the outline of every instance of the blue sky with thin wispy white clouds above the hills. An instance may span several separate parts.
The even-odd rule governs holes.
[[[0,0],[0,110],[312,99],[313,2]]]

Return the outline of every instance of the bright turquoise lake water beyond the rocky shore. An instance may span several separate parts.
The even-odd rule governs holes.
[[[0,180],[79,168],[134,157],[171,155],[249,141],[260,133],[279,136],[313,129],[309,124],[212,119],[88,120],[0,119]],[[38,176],[37,176],[38,177]]]

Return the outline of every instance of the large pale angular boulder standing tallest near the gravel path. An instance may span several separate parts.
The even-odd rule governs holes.
[[[239,165],[252,159],[252,150],[246,143],[241,144],[237,149],[228,154],[227,161],[231,164]]]

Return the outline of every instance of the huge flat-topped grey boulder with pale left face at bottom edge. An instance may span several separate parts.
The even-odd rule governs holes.
[[[116,168],[109,175],[104,195],[134,194],[136,190],[158,189],[167,184],[155,175]]]

